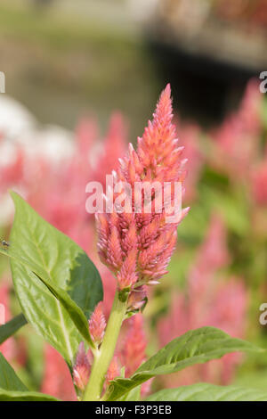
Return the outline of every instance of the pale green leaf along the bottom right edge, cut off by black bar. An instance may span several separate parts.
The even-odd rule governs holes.
[[[267,401],[267,391],[200,382],[178,389],[160,390],[146,401]]]

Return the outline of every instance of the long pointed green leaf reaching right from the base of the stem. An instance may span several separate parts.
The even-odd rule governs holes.
[[[151,377],[171,374],[187,366],[223,357],[229,352],[262,351],[247,341],[231,338],[214,327],[201,327],[174,339],[140,366],[131,378],[117,378],[110,383],[105,399],[116,400]]]

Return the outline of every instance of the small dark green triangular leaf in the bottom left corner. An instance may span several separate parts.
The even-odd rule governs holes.
[[[0,389],[7,391],[27,391],[27,387],[20,381],[5,357],[0,352]]]

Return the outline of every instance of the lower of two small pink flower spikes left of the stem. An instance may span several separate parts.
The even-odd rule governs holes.
[[[85,353],[84,342],[80,343],[75,364],[73,366],[73,382],[79,390],[85,390],[89,380],[91,366]]]

